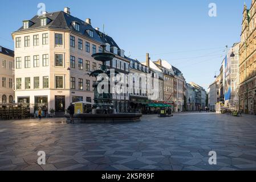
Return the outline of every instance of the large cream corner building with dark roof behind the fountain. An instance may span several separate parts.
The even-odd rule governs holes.
[[[99,29],[70,14],[70,9],[36,15],[13,32],[15,42],[15,101],[25,102],[31,112],[42,107],[63,113],[70,102],[94,103],[88,74],[100,64],[92,54],[101,52]],[[121,50],[113,48],[117,58]]]

